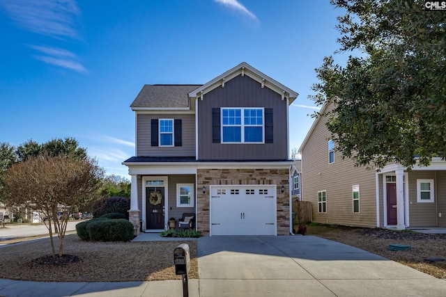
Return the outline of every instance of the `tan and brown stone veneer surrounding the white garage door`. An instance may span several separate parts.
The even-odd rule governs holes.
[[[277,195],[277,235],[290,232],[289,170],[288,169],[199,169],[197,170],[197,230],[210,234],[211,185],[275,184]],[[282,185],[284,193],[280,193]],[[206,194],[201,188],[206,186]]]

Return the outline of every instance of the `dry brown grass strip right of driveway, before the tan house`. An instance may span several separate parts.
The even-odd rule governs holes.
[[[387,259],[405,264],[436,278],[446,278],[446,262],[429,263],[425,259],[437,257],[446,259],[446,234],[422,234],[412,231],[369,229],[359,227],[314,225],[308,226],[308,233],[346,243]],[[387,246],[401,243],[411,250],[392,251]]]

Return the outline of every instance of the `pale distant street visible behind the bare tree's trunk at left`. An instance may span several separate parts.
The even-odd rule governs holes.
[[[76,224],[82,222],[82,220],[70,220],[67,225],[67,232],[75,231]],[[17,239],[20,237],[30,237],[48,235],[48,229],[45,225],[29,225],[27,223],[23,224],[6,224],[3,228],[3,224],[0,225],[0,244],[1,241],[6,241],[10,239]]]

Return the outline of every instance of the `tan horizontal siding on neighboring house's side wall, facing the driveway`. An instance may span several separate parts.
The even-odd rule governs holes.
[[[329,163],[330,132],[326,118],[318,119],[302,147],[302,200],[312,202],[313,221],[339,225],[376,227],[375,170],[355,167],[334,152]],[[353,213],[352,186],[360,186],[360,213]],[[318,213],[318,191],[326,191],[327,212]]]

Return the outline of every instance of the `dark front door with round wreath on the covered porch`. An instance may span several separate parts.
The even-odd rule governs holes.
[[[146,188],[147,229],[164,229],[164,187]]]

